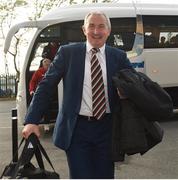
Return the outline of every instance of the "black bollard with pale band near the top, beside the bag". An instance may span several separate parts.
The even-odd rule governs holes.
[[[12,160],[18,161],[18,124],[17,124],[17,109],[12,109]]]

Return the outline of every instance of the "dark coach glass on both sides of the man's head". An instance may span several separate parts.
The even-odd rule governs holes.
[[[82,32],[82,21],[64,22],[49,26],[39,34],[31,54],[29,70],[35,71],[39,68],[44,48],[50,42],[57,42],[59,45],[85,41]],[[107,44],[130,51],[133,47],[136,18],[112,18],[112,32]]]

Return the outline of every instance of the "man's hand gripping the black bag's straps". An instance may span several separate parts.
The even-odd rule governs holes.
[[[27,139],[30,134],[36,134],[37,137],[40,137],[40,128],[36,124],[27,124],[22,130],[22,136]]]

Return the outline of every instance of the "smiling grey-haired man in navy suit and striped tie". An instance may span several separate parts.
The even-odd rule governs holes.
[[[38,123],[48,108],[51,89],[63,79],[63,103],[53,139],[65,150],[70,178],[112,179],[112,112],[119,103],[112,76],[132,68],[125,52],[107,46],[111,23],[90,12],[83,25],[86,43],[61,46],[28,109],[22,134],[40,135]]]

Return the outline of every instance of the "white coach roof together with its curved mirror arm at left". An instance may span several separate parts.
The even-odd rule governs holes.
[[[133,1],[133,0],[132,0]],[[83,20],[84,16],[92,10],[103,11],[110,18],[112,17],[136,17],[136,14],[141,15],[177,15],[178,3],[91,3],[91,4],[77,4],[67,7],[58,7],[51,10],[48,14],[37,21],[26,21],[14,25],[9,30],[4,43],[4,52],[7,53],[10,47],[12,37],[20,28],[39,28],[43,29],[48,25]]]

